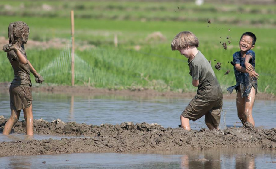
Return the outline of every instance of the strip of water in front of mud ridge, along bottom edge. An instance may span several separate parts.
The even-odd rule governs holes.
[[[275,168],[276,151],[257,148],[157,151],[147,154],[75,153],[1,157],[0,164],[15,168]]]

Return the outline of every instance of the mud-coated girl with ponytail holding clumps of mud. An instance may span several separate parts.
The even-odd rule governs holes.
[[[21,21],[10,23],[8,28],[9,44],[4,45],[8,60],[14,70],[14,80],[10,85],[11,116],[5,124],[3,134],[8,135],[19,119],[21,109],[24,112],[27,135],[33,135],[33,112],[32,112],[32,83],[30,72],[35,76],[37,83],[43,83],[43,78],[33,68],[24,44],[29,38],[29,26]]]

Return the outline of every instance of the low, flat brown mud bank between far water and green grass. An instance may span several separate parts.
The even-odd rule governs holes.
[[[10,83],[1,82],[0,83],[0,93],[9,93]],[[33,92],[46,93],[46,94],[62,94],[62,95],[74,95],[74,96],[130,96],[130,97],[144,97],[144,98],[190,98],[192,99],[196,92],[175,92],[166,91],[159,92],[153,89],[144,90],[110,90],[104,88],[94,88],[91,86],[33,86]],[[235,99],[236,93],[228,94],[224,93],[224,99]],[[258,100],[276,100],[276,96],[271,93],[258,92],[256,95]]]

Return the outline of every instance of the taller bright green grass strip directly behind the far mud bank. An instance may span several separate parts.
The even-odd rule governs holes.
[[[226,70],[233,70],[233,66],[228,63],[231,60],[231,54],[235,50],[217,50],[214,52],[211,48],[199,47],[199,50],[208,60],[212,60],[212,67],[216,62],[222,62],[222,70],[215,70],[220,85],[225,90],[228,86],[235,84],[233,71],[229,75],[224,75]],[[100,88],[110,89],[141,89],[149,88],[159,91],[195,91],[196,88],[191,85],[189,67],[186,65],[186,59],[179,56],[178,52],[172,52],[170,49],[164,49],[164,53],[171,53],[171,56],[158,55],[153,53],[137,52],[134,50],[114,49],[114,48],[96,48],[91,51],[76,52],[75,59],[75,83],[78,85],[87,84],[90,78],[90,85]],[[156,51],[157,52],[157,51]],[[255,50],[257,56],[256,70],[260,74],[259,91],[275,92],[275,70],[271,71],[271,66],[275,61],[268,58],[273,57],[274,50],[259,49]],[[269,53],[266,58],[260,59],[262,53]],[[30,62],[35,66],[38,72],[41,72],[48,84],[70,85],[70,57],[67,59],[56,59],[60,54],[57,50],[29,51]],[[1,57],[4,53],[1,53]],[[258,62],[262,60],[262,62]],[[62,62],[63,61],[63,62]],[[47,68],[47,66],[51,65]],[[1,64],[0,81],[11,81],[13,71],[8,60],[3,60]],[[63,64],[63,66],[61,66]],[[43,70],[43,72],[42,72]],[[33,77],[33,76],[32,76]],[[32,78],[34,83],[34,80]]]

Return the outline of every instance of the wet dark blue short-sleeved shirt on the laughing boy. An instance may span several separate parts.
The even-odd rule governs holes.
[[[253,50],[249,50],[246,52],[246,55],[251,55],[252,59],[250,59],[249,63],[252,64],[253,67],[255,67],[255,52]],[[235,73],[235,78],[237,84],[231,87],[228,87],[227,90],[232,93],[234,89],[236,91],[239,90],[241,91],[241,96],[242,97],[247,97],[249,96],[249,93],[251,91],[252,86],[255,88],[256,93],[257,93],[257,79],[251,79],[248,73],[243,73],[238,70],[236,70],[235,64],[240,64],[242,67],[245,67],[244,65],[245,57],[242,58],[240,51],[235,52],[233,54],[233,61],[231,64],[234,66],[234,73]]]

